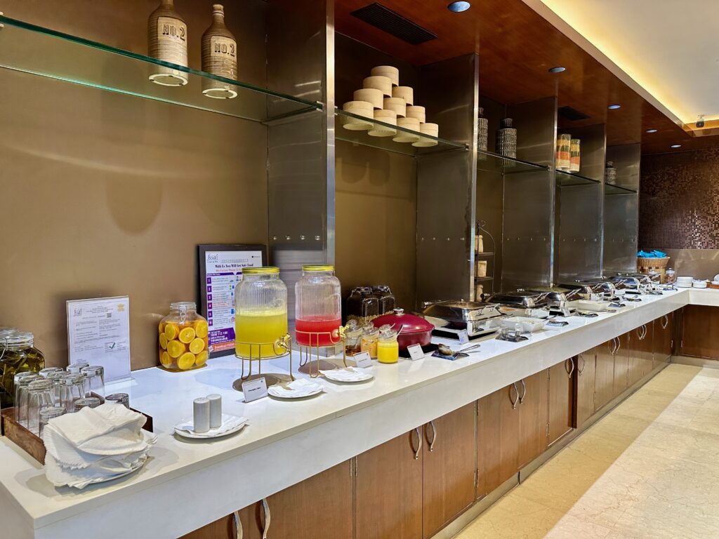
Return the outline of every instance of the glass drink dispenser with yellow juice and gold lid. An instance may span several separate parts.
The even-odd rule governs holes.
[[[285,354],[278,341],[287,334],[287,287],[278,267],[245,267],[235,291],[235,354],[269,359]]]

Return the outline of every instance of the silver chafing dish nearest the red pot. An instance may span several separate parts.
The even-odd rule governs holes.
[[[427,305],[422,311],[434,324],[433,335],[458,338],[467,330],[470,337],[490,335],[498,331],[496,319],[503,316],[499,305],[477,301],[439,301]]]

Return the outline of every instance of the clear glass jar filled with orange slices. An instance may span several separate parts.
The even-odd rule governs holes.
[[[194,301],[170,303],[160,326],[160,365],[168,371],[187,371],[207,363],[207,321]]]

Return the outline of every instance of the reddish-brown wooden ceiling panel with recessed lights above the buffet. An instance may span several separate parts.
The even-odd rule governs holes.
[[[437,39],[410,45],[352,16],[370,0],[336,0],[337,32],[367,43],[413,65],[426,65],[459,55],[480,55],[480,93],[500,103],[521,103],[557,96],[590,116],[582,121],[559,119],[562,129],[607,124],[609,145],[641,142],[643,153],[719,145],[718,137],[692,137],[661,114],[613,73],[559,32],[521,0],[475,0],[463,13],[446,9],[444,0],[380,2],[436,34]],[[549,73],[561,65],[564,73]],[[612,103],[621,109],[608,110]],[[658,129],[647,134],[646,129]]]

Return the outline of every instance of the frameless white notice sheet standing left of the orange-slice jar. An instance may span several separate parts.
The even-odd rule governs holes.
[[[130,377],[130,299],[69,300],[68,363],[105,369],[105,382]]]

